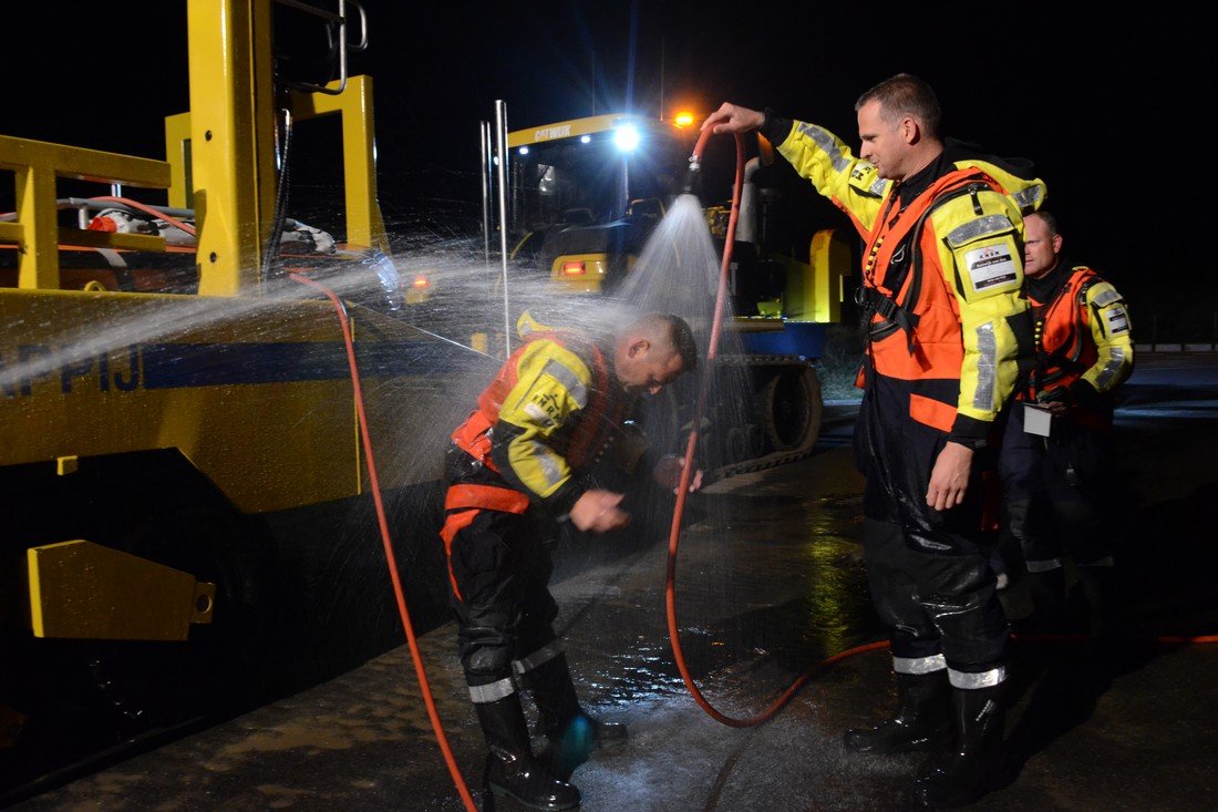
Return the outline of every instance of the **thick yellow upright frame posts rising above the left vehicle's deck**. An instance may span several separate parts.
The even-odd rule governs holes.
[[[166,118],[171,205],[195,210],[203,295],[235,296],[261,282],[274,218],[276,100],[270,0],[190,0],[190,112]],[[337,90],[340,83],[329,88]],[[389,251],[376,202],[371,79],[339,94],[290,94],[295,119],[342,118],[347,243]],[[252,194],[251,194],[252,191]]]

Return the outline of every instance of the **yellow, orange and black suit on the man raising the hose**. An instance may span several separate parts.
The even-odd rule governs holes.
[[[926,495],[949,440],[996,440],[1030,349],[1022,215],[1039,207],[1045,184],[955,141],[898,183],[816,124],[767,111],[762,133],[862,240],[856,301],[867,350],[854,446],[866,475],[868,577],[893,629],[894,666],[927,673],[945,662],[959,688],[993,684],[1006,640],[982,549],[996,502],[993,460],[974,452],[962,505],[937,511]],[[931,566],[910,551],[942,560]]]

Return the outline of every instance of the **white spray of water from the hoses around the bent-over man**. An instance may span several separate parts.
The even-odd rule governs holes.
[[[313,219],[313,218],[309,218]],[[324,221],[324,218],[323,218]],[[392,318],[406,327],[398,329],[410,339],[409,356],[398,360],[404,374],[365,383],[365,395],[373,402],[371,415],[386,423],[374,440],[385,446],[379,463],[398,471],[438,473],[443,439],[468,415],[476,393],[486,385],[508,340],[503,337],[504,297],[512,322],[530,311],[538,321],[558,327],[579,327],[608,338],[616,327],[653,310],[675,312],[694,328],[704,360],[698,376],[686,376],[670,388],[657,406],[689,421],[697,401],[700,376],[714,376],[713,397],[704,418],[710,430],[704,433],[704,467],[713,467],[721,456],[726,427],[743,426],[752,408],[752,393],[745,373],[737,365],[705,363],[714,316],[720,256],[698,200],[678,198],[644,245],[631,273],[608,294],[555,295],[548,273],[509,272],[504,289],[499,262],[482,255],[479,240],[456,237],[456,228],[390,223],[393,228],[393,262],[404,282],[415,273],[432,280],[430,297],[417,305],[402,306]],[[358,304],[370,308],[385,304],[385,291],[369,268],[361,262],[318,266],[309,276],[351,302],[356,318],[357,341],[374,338],[361,330],[375,327],[375,318],[363,317]],[[158,343],[172,352],[175,344],[216,340],[223,334],[245,343],[291,340],[283,338],[285,319],[298,332],[317,335],[333,330],[334,345],[340,338],[336,317],[328,304],[301,307],[306,300],[318,301],[315,290],[300,285],[285,274],[270,278],[257,295],[195,296],[143,294],[96,294],[97,306],[82,295],[72,316],[46,310],[19,308],[22,318],[38,323],[12,323],[10,329],[38,335],[38,352],[22,357],[4,357],[0,363],[0,394],[46,393],[61,388],[63,377],[96,376],[101,358],[129,356],[129,349]],[[72,297],[76,299],[76,297]],[[105,306],[101,300],[118,301]],[[93,313],[93,317],[86,317]],[[78,317],[79,316],[79,317]],[[369,315],[370,316],[370,315]],[[731,318],[731,310],[725,315]],[[315,323],[307,323],[315,319]],[[486,352],[471,349],[475,333],[486,334]],[[513,344],[515,337],[510,337]],[[337,351],[337,350],[336,350]],[[721,358],[739,356],[739,339],[732,330],[720,333],[717,354]],[[162,357],[162,363],[189,366],[190,357]],[[438,371],[438,372],[437,372]],[[269,371],[268,371],[269,372]],[[437,376],[445,380],[437,380]],[[267,376],[263,376],[267,377]],[[654,423],[654,421],[653,421]],[[420,429],[424,427],[425,430]],[[723,432],[716,432],[723,427]],[[657,432],[657,441],[666,450],[680,451],[682,429],[675,426]],[[391,451],[390,451],[391,450]],[[393,480],[392,471],[382,472]]]

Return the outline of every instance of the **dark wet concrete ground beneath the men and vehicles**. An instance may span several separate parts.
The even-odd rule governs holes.
[[[1196,363],[1196,360],[1188,360]],[[1183,361],[1180,363],[1184,363]],[[1007,718],[1012,782],[978,810],[1208,810],[1218,792],[1218,363],[1142,362],[1119,412],[1130,625],[1119,656],[1016,640]],[[1181,377],[1188,376],[1188,377]],[[1203,376],[1197,378],[1197,376]],[[861,480],[849,406],[817,452],[715,483],[689,501],[676,560],[680,646],[722,724],[675,664],[665,614],[667,539],[605,550],[565,540],[553,591],[582,697],[630,725],[572,782],[587,811],[900,810],[922,756],[860,756],[845,727],[893,699],[859,546]],[[844,421],[844,422],[843,422]],[[1205,522],[1202,524],[1201,522]],[[604,545],[600,545],[602,547]],[[1018,594],[1007,599],[1016,612]],[[481,733],[451,624],[419,640],[456,763],[481,803]],[[72,810],[462,810],[402,646],[343,677],[24,801]],[[516,810],[499,801],[498,810]]]

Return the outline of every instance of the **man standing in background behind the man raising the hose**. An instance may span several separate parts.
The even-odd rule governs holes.
[[[1024,229],[1035,361],[1016,393],[999,465],[1004,536],[1022,554],[1033,602],[1016,628],[1065,630],[1068,557],[1089,608],[1088,630],[1111,638],[1121,611],[1113,391],[1134,368],[1129,311],[1110,282],[1067,260],[1052,213],[1029,215]]]

